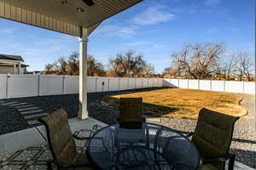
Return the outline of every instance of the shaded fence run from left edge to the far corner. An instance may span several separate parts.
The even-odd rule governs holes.
[[[88,77],[88,93],[162,87],[161,78]],[[0,99],[79,94],[79,77],[0,75]]]

